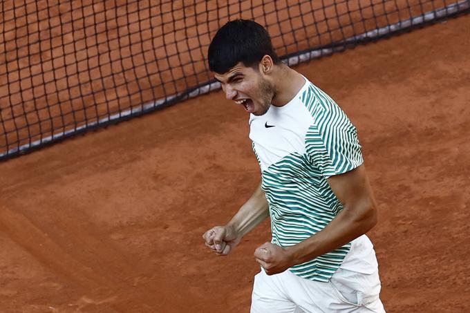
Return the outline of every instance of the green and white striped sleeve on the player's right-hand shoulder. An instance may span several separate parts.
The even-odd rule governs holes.
[[[324,178],[346,173],[364,162],[357,130],[339,106],[317,116],[306,135],[306,153]]]

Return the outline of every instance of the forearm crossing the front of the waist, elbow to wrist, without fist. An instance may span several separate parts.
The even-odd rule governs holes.
[[[305,263],[350,243],[376,223],[377,214],[372,204],[360,210],[345,207],[324,229],[287,249],[294,265]]]

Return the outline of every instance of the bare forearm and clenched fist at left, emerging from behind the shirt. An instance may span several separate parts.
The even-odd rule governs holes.
[[[234,217],[225,226],[216,226],[203,235],[205,245],[220,256],[226,256],[240,243],[245,234],[259,225],[269,216],[269,209],[265,192],[261,184],[252,196],[238,210]]]

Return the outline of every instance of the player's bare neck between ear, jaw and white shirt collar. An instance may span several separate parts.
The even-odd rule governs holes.
[[[273,77],[275,77],[274,87],[276,93],[271,103],[274,106],[284,106],[288,104],[306,82],[302,75],[285,64],[276,66]]]

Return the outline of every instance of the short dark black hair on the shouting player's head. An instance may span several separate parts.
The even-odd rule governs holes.
[[[207,58],[209,69],[223,74],[238,62],[244,66],[256,66],[265,55],[269,55],[274,64],[281,63],[272,48],[270,35],[263,26],[247,19],[236,19],[217,31]]]

